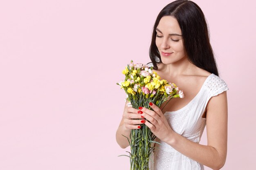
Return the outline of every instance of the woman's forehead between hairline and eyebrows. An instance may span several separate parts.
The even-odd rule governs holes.
[[[163,34],[182,34],[177,20],[172,16],[163,16],[157,25],[157,29],[159,29]]]

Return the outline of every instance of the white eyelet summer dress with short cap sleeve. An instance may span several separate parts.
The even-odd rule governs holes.
[[[165,112],[164,116],[173,131],[199,143],[206,125],[206,118],[202,118],[202,115],[209,99],[227,90],[229,88],[223,79],[211,74],[189,104],[179,110]],[[161,145],[155,144],[156,150],[150,157],[150,170],[204,170],[201,163],[182,155],[158,138],[155,141]]]

